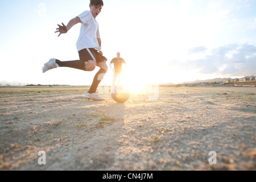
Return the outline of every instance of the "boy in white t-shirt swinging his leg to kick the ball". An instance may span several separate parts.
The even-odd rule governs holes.
[[[80,60],[60,61],[50,59],[43,67],[43,73],[57,67],[69,67],[83,71],[93,71],[96,66],[100,67],[100,70],[94,76],[89,91],[85,93],[85,98],[92,100],[105,100],[105,98],[96,93],[98,85],[108,71],[108,65],[106,65],[107,59],[101,52],[100,31],[98,22],[95,19],[101,13],[103,6],[104,3],[102,0],[90,0],[90,11],[84,11],[76,16],[76,18],[71,19],[67,26],[62,23],[63,26],[58,24],[59,28],[56,28],[56,32],[59,32],[60,36],[61,34],[67,33],[75,24],[81,23],[80,35],[76,43]]]

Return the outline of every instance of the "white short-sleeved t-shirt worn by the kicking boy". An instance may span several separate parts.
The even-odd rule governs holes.
[[[81,20],[80,35],[76,43],[77,51],[81,51],[81,49],[85,48],[94,48],[101,51],[97,40],[97,38],[100,38],[98,22],[93,17],[92,13],[90,11],[84,11],[77,17]]]

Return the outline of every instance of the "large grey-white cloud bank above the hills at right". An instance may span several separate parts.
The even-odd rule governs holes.
[[[198,51],[207,51],[200,59],[185,61],[172,60],[169,65],[180,70],[195,70],[200,74],[222,76],[246,76],[256,74],[256,47],[251,44],[228,44],[213,49],[204,46],[189,49],[193,55]],[[193,57],[193,56],[191,56]]]

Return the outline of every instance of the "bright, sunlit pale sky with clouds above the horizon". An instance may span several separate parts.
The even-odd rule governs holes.
[[[98,68],[57,68],[50,58],[77,60],[80,24],[55,34],[57,24],[89,10],[89,0],[0,2],[0,81],[90,85]],[[104,1],[100,25],[107,64],[116,53],[130,80],[174,82],[256,75],[255,0]],[[112,83],[108,71],[102,84]]]

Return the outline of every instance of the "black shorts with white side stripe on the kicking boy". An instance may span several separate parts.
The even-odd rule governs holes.
[[[100,63],[102,61],[106,62],[108,60],[94,48],[85,48],[79,51],[79,59],[82,61],[94,60],[97,63]]]

